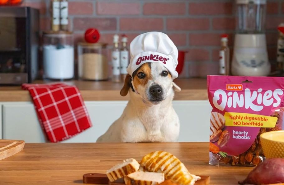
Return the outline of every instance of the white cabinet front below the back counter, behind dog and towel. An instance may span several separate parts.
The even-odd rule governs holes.
[[[46,142],[31,102],[0,104],[3,139],[21,139],[27,143]],[[127,101],[86,101],[85,104],[93,126],[63,142],[96,142],[97,138],[121,116]],[[208,100],[175,100],[173,106],[180,119],[180,142],[209,141],[211,106]]]

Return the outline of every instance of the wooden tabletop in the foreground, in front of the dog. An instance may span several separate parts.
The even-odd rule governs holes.
[[[209,165],[209,143],[42,143],[26,144],[1,160],[0,184],[83,184],[85,173],[105,173],[126,158],[140,161],[156,150],[177,156],[192,174],[211,176],[211,185],[236,185],[253,169]]]

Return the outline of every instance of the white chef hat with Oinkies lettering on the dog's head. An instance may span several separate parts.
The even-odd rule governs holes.
[[[168,35],[162,32],[147,32],[130,43],[130,63],[127,72],[131,75],[142,64],[159,62],[168,69],[172,80],[178,77],[178,49]]]

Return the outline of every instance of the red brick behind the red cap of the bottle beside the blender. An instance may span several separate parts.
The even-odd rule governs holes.
[[[233,37],[229,34],[229,43],[231,46],[233,44]],[[195,33],[189,35],[189,45],[190,46],[220,46],[221,34],[217,33]]]

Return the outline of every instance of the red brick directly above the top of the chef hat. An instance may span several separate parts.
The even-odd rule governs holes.
[[[120,30],[153,31],[163,29],[162,18],[121,18]]]

